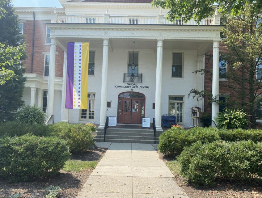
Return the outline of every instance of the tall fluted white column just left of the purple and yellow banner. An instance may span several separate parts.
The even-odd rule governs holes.
[[[53,115],[53,108],[54,108],[55,63],[56,63],[56,40],[51,39],[48,90],[47,90],[47,110],[46,110],[48,116]]]

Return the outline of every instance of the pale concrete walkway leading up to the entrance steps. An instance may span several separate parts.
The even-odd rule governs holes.
[[[112,143],[78,198],[188,198],[151,144]]]

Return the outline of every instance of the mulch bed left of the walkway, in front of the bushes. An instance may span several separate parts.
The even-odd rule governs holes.
[[[83,154],[74,154],[71,156],[71,159],[99,161],[105,152],[105,149],[95,148]],[[7,198],[8,195],[18,192],[23,193],[23,198],[44,198],[45,191],[43,189],[50,185],[62,188],[61,198],[74,198],[82,189],[92,171],[84,170],[78,173],[60,171],[54,178],[34,182],[8,183],[7,181],[0,180],[0,198]]]

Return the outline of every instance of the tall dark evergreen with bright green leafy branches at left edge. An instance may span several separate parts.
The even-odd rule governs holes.
[[[20,44],[19,21],[11,0],[0,0],[0,122],[12,119],[24,104],[22,100],[26,78],[21,60],[25,59],[25,44]]]

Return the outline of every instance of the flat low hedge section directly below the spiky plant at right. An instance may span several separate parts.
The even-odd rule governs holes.
[[[221,140],[225,141],[247,141],[252,140],[253,142],[260,142],[262,141],[262,130],[258,129],[233,129],[233,130],[226,130],[220,129],[218,130],[219,136]]]

